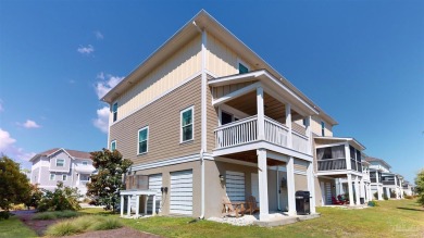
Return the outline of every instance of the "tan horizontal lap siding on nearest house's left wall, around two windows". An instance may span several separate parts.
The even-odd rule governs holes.
[[[110,140],[135,165],[199,153],[201,141],[201,80],[188,82],[110,127]],[[180,143],[180,111],[194,105],[194,140]],[[138,129],[149,126],[148,152],[137,155]]]

